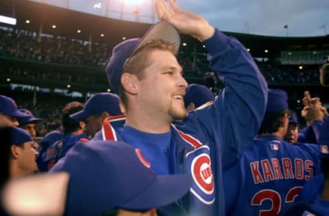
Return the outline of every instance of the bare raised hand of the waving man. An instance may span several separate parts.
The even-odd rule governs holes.
[[[202,16],[181,10],[173,0],[168,1],[171,8],[164,3],[164,0],[156,0],[156,14],[160,21],[167,21],[181,33],[187,33],[200,41],[214,35],[214,27]]]

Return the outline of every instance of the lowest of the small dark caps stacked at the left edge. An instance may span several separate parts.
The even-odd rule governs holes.
[[[3,128],[4,131],[9,133],[9,145],[16,145],[21,146],[22,144],[25,144],[25,142],[33,141],[33,138],[29,133],[27,133],[25,130],[16,127],[16,126],[7,126]]]

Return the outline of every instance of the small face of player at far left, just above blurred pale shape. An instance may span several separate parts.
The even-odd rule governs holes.
[[[38,152],[34,148],[34,141],[25,142],[22,146],[18,146],[17,150],[20,152],[19,168],[22,174],[31,174],[38,171],[36,165]]]

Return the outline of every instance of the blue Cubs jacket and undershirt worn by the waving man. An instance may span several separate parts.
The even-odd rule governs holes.
[[[265,113],[267,83],[252,56],[235,38],[216,29],[203,44],[209,52],[210,68],[226,85],[213,105],[173,122],[169,138],[161,144],[154,140],[166,137],[164,134],[115,127],[111,122],[104,124],[94,139],[125,141],[140,148],[157,173],[187,172],[193,186],[180,206],[189,215],[223,215],[222,168],[233,163],[236,154],[256,135]],[[158,211],[168,213],[168,209],[166,206]]]

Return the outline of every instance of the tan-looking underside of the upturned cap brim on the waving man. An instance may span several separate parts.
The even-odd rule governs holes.
[[[138,42],[132,55],[138,51],[142,46],[147,44],[150,40],[164,40],[169,42],[175,46],[176,51],[180,49],[180,34],[178,31],[171,25],[170,23],[161,21],[159,23],[154,24],[147,33],[143,36],[143,38]],[[132,56],[130,55],[130,56]]]

